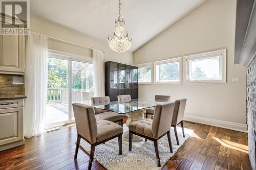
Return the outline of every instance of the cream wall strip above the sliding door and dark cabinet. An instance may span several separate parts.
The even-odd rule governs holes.
[[[133,64],[133,53],[124,52],[119,54],[110,49],[107,43],[108,35],[106,35],[106,40],[102,41],[94,37],[88,36],[86,34],[76,32],[66,27],[62,27],[55,23],[45,21],[45,20],[40,20],[33,17],[30,18],[30,29],[40,34],[45,34],[47,36],[51,36],[51,37],[59,38],[62,40],[70,41],[73,43],[81,44],[84,46],[89,46],[89,47],[97,48],[99,50],[103,50],[105,52],[104,53],[105,61],[115,61],[115,62],[120,62],[124,64],[130,64],[130,65]],[[60,49],[65,47],[65,45],[63,44],[60,45],[59,42],[53,42],[52,40],[49,40],[49,45],[55,48],[60,48]],[[83,53],[80,47],[70,45],[70,44],[68,45],[70,48],[72,48],[72,50],[76,50],[78,54],[80,55],[87,54],[88,55],[87,57],[91,57],[90,50],[84,49],[84,53]]]

